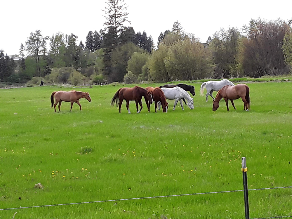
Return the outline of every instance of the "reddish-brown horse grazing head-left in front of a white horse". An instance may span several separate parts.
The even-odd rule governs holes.
[[[233,100],[241,98],[241,100],[244,102],[244,109],[248,111],[250,109],[250,98],[249,98],[249,87],[246,84],[237,84],[235,86],[229,86],[225,85],[223,88],[221,88],[216,97],[215,100],[213,100],[213,111],[216,111],[219,107],[219,101],[224,98],[227,106],[227,111],[229,111],[228,108],[228,100],[231,100],[232,106],[235,108]]]

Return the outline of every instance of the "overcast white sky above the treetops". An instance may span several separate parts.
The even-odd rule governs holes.
[[[185,32],[194,33],[201,42],[206,42],[208,36],[213,36],[221,27],[241,28],[251,18],[288,20],[292,17],[291,0],[125,0],[125,3],[128,5],[128,20],[135,32],[145,30],[147,36],[152,36],[155,45],[160,32],[171,29],[176,20]],[[101,8],[104,9],[105,5],[105,0],[3,0],[0,4],[0,49],[8,55],[18,54],[20,44],[25,44],[30,32],[36,29],[40,29],[44,36],[52,36],[59,31],[73,33],[85,42],[90,30],[104,28]]]

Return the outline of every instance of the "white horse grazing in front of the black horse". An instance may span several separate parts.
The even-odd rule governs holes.
[[[183,108],[183,101],[182,99],[185,98],[187,100],[187,106],[190,107],[190,109],[194,109],[194,99],[191,98],[190,94],[187,93],[183,88],[180,87],[174,87],[174,88],[161,88],[163,91],[166,99],[168,100],[175,100],[173,105],[173,110],[175,110],[175,106],[177,105],[178,101],[180,101],[180,105]],[[158,102],[158,110],[160,110],[161,103]]]

